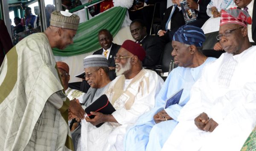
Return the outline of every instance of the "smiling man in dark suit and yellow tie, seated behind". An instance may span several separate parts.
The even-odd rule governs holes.
[[[93,55],[104,55],[108,59],[109,66],[109,78],[111,81],[116,78],[116,64],[114,56],[118,52],[120,45],[112,43],[113,36],[107,29],[102,29],[98,34],[99,44],[102,46],[101,49],[93,53]]]

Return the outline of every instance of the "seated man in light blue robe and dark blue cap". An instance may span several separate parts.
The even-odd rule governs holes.
[[[202,54],[205,41],[202,29],[181,26],[172,39],[172,56],[179,67],[172,70],[156,98],[155,108],[138,119],[125,140],[125,151],[160,151],[177,125],[180,109],[188,102],[192,84],[201,76],[204,66],[215,58]],[[183,89],[180,102],[165,108],[166,99]]]

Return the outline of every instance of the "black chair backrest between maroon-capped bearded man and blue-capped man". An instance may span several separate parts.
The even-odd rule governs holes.
[[[165,45],[163,49],[163,57],[162,57],[162,71],[163,73],[169,72],[170,62],[173,61],[172,53],[172,42],[169,42]]]

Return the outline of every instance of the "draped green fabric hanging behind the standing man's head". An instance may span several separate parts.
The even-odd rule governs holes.
[[[98,41],[99,30],[108,29],[115,36],[122,26],[126,11],[126,8],[113,7],[79,24],[76,36],[73,38],[74,44],[67,46],[64,50],[54,48],[52,49],[53,54],[57,56],[73,56],[99,49],[101,47]]]

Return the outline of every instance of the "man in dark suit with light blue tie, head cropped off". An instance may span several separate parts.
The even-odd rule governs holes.
[[[160,30],[157,35],[163,40],[164,43],[172,41],[174,33],[181,26],[185,25],[185,20],[180,7],[181,0],[172,0],[173,3],[177,1],[177,4],[166,9],[164,13],[163,20],[161,20]]]

